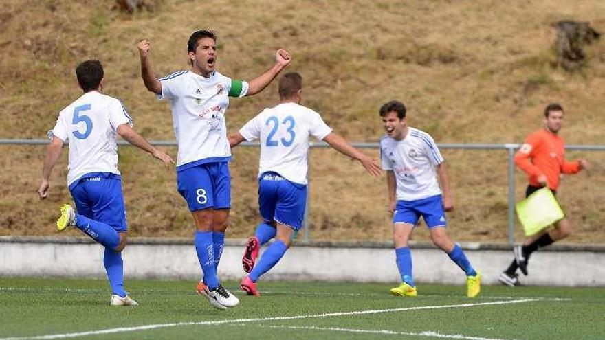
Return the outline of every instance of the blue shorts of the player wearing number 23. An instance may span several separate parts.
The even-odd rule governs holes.
[[[292,183],[276,172],[265,172],[259,179],[261,216],[271,222],[299,230],[303,227],[307,205],[307,185]]]

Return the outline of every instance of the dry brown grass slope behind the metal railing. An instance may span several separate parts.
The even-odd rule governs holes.
[[[438,142],[520,142],[540,126],[542,108],[551,101],[567,108],[562,134],[569,144],[602,144],[605,137],[605,43],[588,47],[590,63],[568,74],[551,65],[550,26],[577,19],[605,32],[603,1],[163,0],[156,12],[134,16],[112,5],[0,1],[1,138],[45,137],[58,111],[80,95],[75,65],[99,58],[106,93],[124,101],[135,128],[149,139],[173,139],[168,104],[157,102],[140,80],[135,44],[151,40],[159,75],[187,69],[186,40],[199,27],[219,32],[219,69],[234,78],[258,75],[276,49],[289,49],[294,61],[288,70],[305,78],[304,104],[354,141],[379,139],[377,109],[394,98],[408,106],[410,124]],[[229,127],[239,128],[275,103],[274,84],[260,95],[232,100]],[[69,201],[65,155],[50,198],[39,201],[44,148],[0,148],[0,234],[54,234],[58,204]],[[505,152],[443,153],[456,200],[450,234],[457,240],[505,240]],[[132,148],[122,148],[120,157],[132,234],[192,234],[174,172]],[[560,197],[578,231],[568,242],[605,242],[605,234],[595,232],[605,219],[605,155],[571,152],[573,157],[591,159],[595,168],[564,179]],[[257,150],[234,150],[229,236],[246,236],[256,223],[257,161]],[[517,184],[520,197],[522,174]],[[385,191],[384,178],[370,178],[333,150],[313,150],[311,237],[387,240]],[[426,238],[423,228],[417,233],[416,239]]]

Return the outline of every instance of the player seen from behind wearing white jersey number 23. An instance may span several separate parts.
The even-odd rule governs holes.
[[[303,226],[310,135],[357,159],[370,174],[380,176],[380,167],[371,157],[333,133],[319,113],[300,105],[302,91],[300,75],[285,74],[279,82],[280,104],[263,110],[229,136],[231,146],[244,140],[261,141],[259,207],[264,223],[256,227],[255,236],[248,240],[242,259],[244,270],[250,275],[243,277],[241,288],[249,295],[260,295],[256,281],[277,264]],[[276,240],[254,266],[259,247],[272,238]]]

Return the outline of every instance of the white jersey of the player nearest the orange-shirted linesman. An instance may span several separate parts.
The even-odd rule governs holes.
[[[383,170],[393,170],[397,181],[397,201],[415,201],[441,194],[435,166],[443,162],[439,148],[430,135],[408,128],[400,141],[380,139]]]

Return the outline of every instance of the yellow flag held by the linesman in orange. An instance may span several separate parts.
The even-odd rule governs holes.
[[[536,190],[527,199],[517,203],[516,211],[525,236],[536,235],[565,217],[555,195],[548,187]]]

